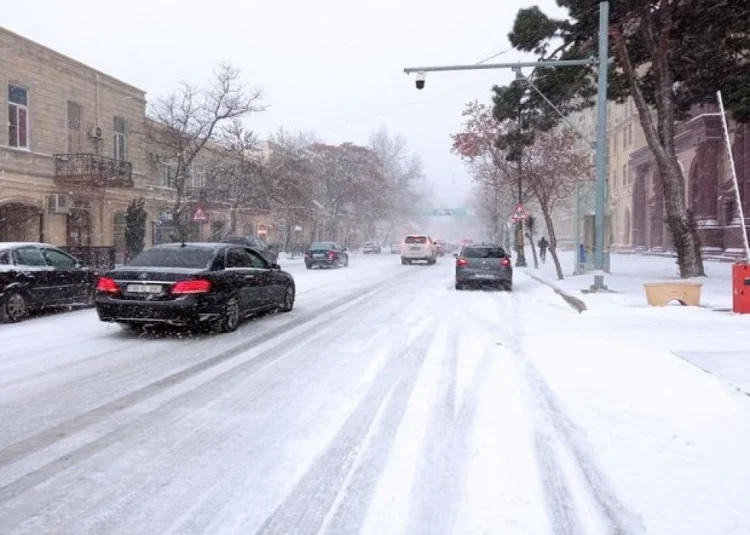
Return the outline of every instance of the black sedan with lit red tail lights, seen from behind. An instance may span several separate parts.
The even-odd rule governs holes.
[[[249,247],[226,243],[159,245],[103,273],[99,319],[126,328],[209,327],[231,332],[268,310],[290,312],[294,278]]]

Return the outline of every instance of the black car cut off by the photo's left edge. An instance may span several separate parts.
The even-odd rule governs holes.
[[[21,321],[45,308],[91,305],[96,280],[96,271],[53,245],[0,242],[0,321]]]

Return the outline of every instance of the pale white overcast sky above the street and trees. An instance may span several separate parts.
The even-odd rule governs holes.
[[[450,134],[465,102],[488,101],[509,71],[434,73],[417,91],[407,66],[476,63],[510,48],[520,7],[554,0],[25,0],[3,1],[0,24],[147,92],[205,82],[227,62],[261,88],[251,124],[328,143],[366,144],[381,126],[403,134],[446,205],[470,187]],[[511,51],[494,61],[524,58]]]

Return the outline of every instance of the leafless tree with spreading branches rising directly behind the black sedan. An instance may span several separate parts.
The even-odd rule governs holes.
[[[221,65],[207,87],[183,83],[152,104],[146,137],[171,167],[170,186],[175,190],[172,220],[178,240],[187,237],[186,188],[197,158],[223,125],[265,109],[260,103],[261,93],[248,91],[238,70]]]

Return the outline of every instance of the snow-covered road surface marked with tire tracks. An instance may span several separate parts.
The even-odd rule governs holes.
[[[0,326],[0,532],[750,532],[750,398],[647,337],[520,271],[288,270],[230,335]]]

